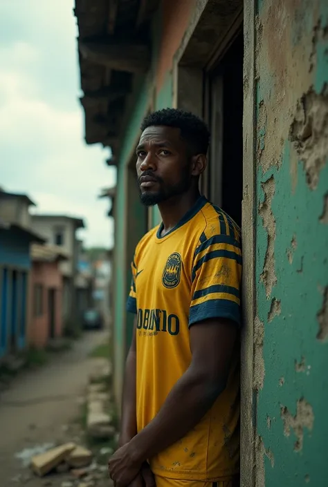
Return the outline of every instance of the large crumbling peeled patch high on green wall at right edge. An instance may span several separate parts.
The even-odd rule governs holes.
[[[311,88],[298,101],[289,140],[303,163],[307,184],[316,189],[328,154],[328,95]]]

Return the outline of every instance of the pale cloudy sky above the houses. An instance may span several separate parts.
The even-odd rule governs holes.
[[[87,247],[111,247],[100,189],[115,185],[108,149],[84,144],[74,0],[0,1],[0,186],[35,213],[84,218]]]

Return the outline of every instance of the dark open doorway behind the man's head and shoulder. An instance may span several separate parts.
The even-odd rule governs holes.
[[[240,32],[209,76],[212,142],[208,194],[239,226],[243,188],[243,58],[244,39]]]

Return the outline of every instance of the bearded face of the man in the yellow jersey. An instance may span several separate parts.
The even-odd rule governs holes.
[[[190,157],[179,128],[145,128],[136,154],[140,200],[143,204],[152,206],[188,191],[192,181]]]

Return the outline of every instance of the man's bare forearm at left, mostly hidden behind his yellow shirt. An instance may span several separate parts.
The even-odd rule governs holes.
[[[122,394],[122,419],[119,446],[129,443],[136,435],[136,318],[132,343],[125,363],[125,376]]]

